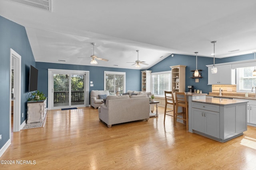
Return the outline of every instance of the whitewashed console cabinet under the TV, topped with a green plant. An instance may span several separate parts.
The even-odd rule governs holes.
[[[46,101],[28,101],[27,123],[42,122],[46,115]]]

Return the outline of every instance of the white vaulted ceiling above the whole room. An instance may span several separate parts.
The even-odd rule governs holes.
[[[35,60],[147,69],[172,53],[230,57],[256,51],[255,0],[52,0],[52,12],[0,0],[0,15],[26,28]],[[229,52],[239,49],[239,51]],[[162,57],[163,56],[163,57]],[[59,61],[66,60],[66,62]],[[113,66],[118,65],[118,66]]]

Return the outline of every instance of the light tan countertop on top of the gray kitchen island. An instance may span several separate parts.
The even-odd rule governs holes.
[[[232,105],[232,104],[248,102],[248,101],[242,101],[242,100],[221,99],[221,98],[212,98],[212,97],[206,97],[205,99],[198,99],[198,100],[192,100],[192,101],[198,102],[198,103],[213,104],[213,105]]]

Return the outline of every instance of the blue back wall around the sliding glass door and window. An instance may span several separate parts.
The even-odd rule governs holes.
[[[36,62],[38,69],[38,90],[48,96],[48,69],[69,69],[90,71],[89,81],[93,81],[92,90],[104,90],[104,71],[126,72],[126,91],[141,90],[141,70],[137,69],[120,69],[112,67],[98,67],[88,65],[71,65],[58,63]]]

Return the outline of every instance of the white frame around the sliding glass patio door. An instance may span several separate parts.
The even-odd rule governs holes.
[[[89,71],[84,70],[65,70],[65,69],[48,69],[48,110],[58,109],[57,107],[53,107],[53,73],[60,74],[85,74],[85,89],[84,89],[84,105],[86,107],[89,106]],[[62,107],[68,108],[68,107]],[[60,108],[59,108],[60,109]]]

